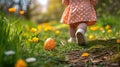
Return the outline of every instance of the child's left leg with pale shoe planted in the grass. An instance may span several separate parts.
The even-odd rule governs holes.
[[[77,27],[75,26],[75,24],[70,24],[69,25],[70,39],[68,40],[68,42],[75,42],[76,41],[76,37],[75,37],[76,28]]]

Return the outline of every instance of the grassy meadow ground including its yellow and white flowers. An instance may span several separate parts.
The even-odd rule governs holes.
[[[51,20],[36,24],[23,17],[0,15],[0,67],[70,67],[78,61],[71,61],[68,54],[79,51],[88,53],[104,62],[95,64],[105,67],[108,63],[119,63],[120,60],[120,18],[106,16],[98,18],[95,25],[89,26],[86,32],[86,46],[68,43],[68,25]],[[53,38],[56,47],[45,50],[44,42]],[[106,52],[106,53],[105,53]],[[78,53],[78,52],[77,52]],[[88,58],[88,56],[87,56]],[[93,61],[96,59],[92,59]],[[95,62],[84,61],[86,67]],[[82,60],[83,61],[83,60]],[[79,62],[80,64],[81,62]],[[77,67],[77,66],[75,66]]]

